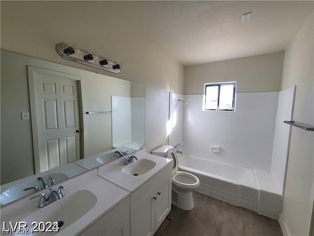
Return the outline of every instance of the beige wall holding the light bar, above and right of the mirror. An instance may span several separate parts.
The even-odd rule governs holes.
[[[169,91],[183,93],[183,66],[139,36],[119,17],[114,1],[1,1],[1,49],[145,84],[147,151],[168,144]],[[71,9],[64,13],[63,9]],[[105,15],[107,21],[93,21]],[[17,17],[18,16],[18,17]],[[62,59],[66,42],[118,60],[119,74]]]

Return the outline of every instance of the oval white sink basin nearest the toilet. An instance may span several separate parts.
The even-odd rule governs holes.
[[[130,176],[140,176],[152,170],[155,166],[156,162],[154,161],[148,159],[140,159],[122,168],[121,171]]]

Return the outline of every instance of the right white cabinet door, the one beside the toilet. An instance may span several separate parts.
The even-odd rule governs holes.
[[[160,182],[156,194],[156,230],[171,210],[171,175]],[[156,191],[155,191],[156,192]]]

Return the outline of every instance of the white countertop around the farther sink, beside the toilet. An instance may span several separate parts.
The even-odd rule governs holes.
[[[128,174],[123,173],[122,168],[126,167],[124,165],[124,160],[122,158],[112,161],[106,165],[98,167],[98,174],[110,181],[128,189],[131,192],[134,192],[138,187],[144,184],[147,180],[157,174],[160,170],[162,170],[165,166],[169,165],[172,160],[160,157],[156,155],[152,155],[146,153],[145,148],[137,151],[135,156],[140,159],[148,159],[154,161],[156,166],[145,174],[139,176],[130,176]],[[136,161],[135,161],[136,162]],[[130,165],[132,165],[131,163]]]

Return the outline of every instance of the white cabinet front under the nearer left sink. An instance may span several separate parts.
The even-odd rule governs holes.
[[[111,209],[79,236],[130,236],[130,197]]]

